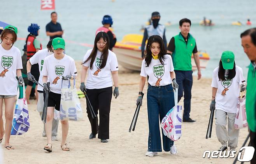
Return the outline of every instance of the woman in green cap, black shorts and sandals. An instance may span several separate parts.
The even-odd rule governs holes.
[[[77,75],[75,61],[72,57],[63,54],[65,49],[65,41],[63,38],[54,38],[52,42],[54,54],[47,56],[44,59],[44,66],[42,69],[44,92],[49,91],[47,116],[46,116],[46,136],[47,145],[44,150],[52,152],[52,125],[54,108],[60,111],[61,88],[68,88],[68,80],[74,79]],[[62,80],[64,81],[61,81]],[[65,81],[67,80],[67,81]],[[47,88],[47,82],[50,82],[50,90]],[[69,151],[66,140],[68,135],[68,121],[60,121],[62,129],[61,149]]]

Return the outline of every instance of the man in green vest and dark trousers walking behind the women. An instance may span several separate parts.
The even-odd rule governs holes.
[[[187,18],[181,19],[179,28],[181,32],[171,38],[167,47],[167,52],[172,54],[174,64],[174,71],[176,74],[176,81],[179,85],[178,89],[178,102],[181,100],[184,92],[184,112],[183,122],[193,123],[195,120],[189,117],[191,109],[191,89],[193,84],[191,55],[195,59],[196,67],[198,70],[198,80],[201,78],[199,55],[196,48],[196,40],[189,34],[191,21]]]

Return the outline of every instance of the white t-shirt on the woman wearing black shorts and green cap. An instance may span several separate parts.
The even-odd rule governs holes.
[[[50,90],[54,93],[61,94],[61,79],[62,76],[73,75],[77,76],[75,61],[72,57],[65,56],[58,60],[54,54],[44,58],[44,67],[42,76],[47,76],[47,82],[50,82]],[[68,80],[63,80],[62,88],[68,88]]]

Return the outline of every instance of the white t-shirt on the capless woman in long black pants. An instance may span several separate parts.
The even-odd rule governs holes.
[[[83,61],[88,59],[89,55],[91,54],[91,51],[92,49],[86,52],[86,54],[84,55]],[[91,59],[83,64],[83,66],[89,67],[88,78],[86,80],[87,89],[101,89],[101,88],[107,88],[107,87],[113,86],[111,71],[118,70],[116,54],[114,54],[114,52],[109,50],[106,66],[102,69],[98,69],[100,67],[100,56],[101,56],[101,52],[98,51],[96,58],[93,62],[92,69],[90,69]]]

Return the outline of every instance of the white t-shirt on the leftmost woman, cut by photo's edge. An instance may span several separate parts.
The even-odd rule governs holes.
[[[0,58],[0,95],[17,95],[16,70],[23,69],[21,51],[15,46],[12,46],[10,50],[5,50],[1,44]]]

